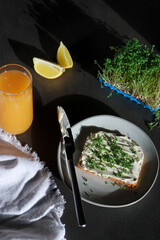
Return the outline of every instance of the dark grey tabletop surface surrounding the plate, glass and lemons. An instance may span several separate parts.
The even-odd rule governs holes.
[[[34,121],[18,136],[28,143],[52,171],[66,200],[62,222],[69,240],[160,239],[160,178],[150,193],[133,206],[101,208],[83,202],[87,227],[77,226],[72,193],[60,179],[57,148],[60,131],[57,105],[68,113],[71,125],[90,116],[109,114],[124,118],[146,132],[160,153],[160,129],[149,131],[150,111],[100,87],[98,68],[110,57],[110,45],[136,37],[160,50],[158,1],[110,0],[1,0],[0,65],[18,63],[33,75]],[[56,61],[59,42],[70,50],[74,67],[47,80],[35,73],[33,57]],[[46,235],[47,236],[47,235]]]

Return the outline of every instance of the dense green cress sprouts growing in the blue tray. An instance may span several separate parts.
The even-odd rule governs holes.
[[[123,46],[110,47],[112,59],[106,58],[103,67],[95,61],[100,69],[98,78],[156,109],[160,99],[160,54],[154,48],[135,38]]]

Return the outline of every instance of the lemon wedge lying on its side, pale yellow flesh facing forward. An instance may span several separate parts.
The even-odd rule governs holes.
[[[42,77],[54,79],[62,75],[64,67],[40,58],[33,58],[34,70]]]

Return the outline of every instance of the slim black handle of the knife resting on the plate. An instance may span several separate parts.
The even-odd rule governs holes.
[[[80,192],[79,192],[79,187],[78,187],[78,182],[77,182],[77,177],[76,177],[76,173],[75,173],[73,160],[69,161],[69,166],[70,166],[73,199],[74,199],[74,204],[75,204],[78,225],[80,227],[86,227],[86,221],[85,221],[84,212],[83,212],[83,208],[82,208],[81,196],[80,196]]]

